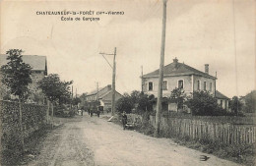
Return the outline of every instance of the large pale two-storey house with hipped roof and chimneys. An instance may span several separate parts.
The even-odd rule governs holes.
[[[156,70],[142,76],[142,89],[144,93],[149,95],[154,94],[156,97],[158,96],[159,73],[160,70]],[[178,59],[175,58],[172,63],[163,67],[163,101],[164,98],[170,97],[171,91],[176,87],[182,88],[187,96],[197,90],[206,90],[216,96],[216,80],[216,77],[209,74],[209,64],[205,65],[205,72],[201,72],[184,63],[179,63]],[[183,109],[187,109],[189,112],[188,108]],[[176,104],[166,99],[165,102],[162,103],[162,110],[178,111]]]

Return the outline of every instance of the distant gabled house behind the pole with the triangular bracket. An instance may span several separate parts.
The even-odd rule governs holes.
[[[115,91],[115,101],[122,98],[123,95],[119,92]],[[85,96],[85,100],[88,102],[98,100],[100,105],[104,107],[104,110],[111,109],[111,101],[112,101],[112,88],[111,85],[108,84],[104,87],[100,87]]]

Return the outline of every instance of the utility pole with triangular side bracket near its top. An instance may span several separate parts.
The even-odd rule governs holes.
[[[115,113],[115,73],[116,73],[116,62],[115,62],[115,58],[116,58],[116,47],[114,48],[114,54],[106,54],[106,53],[99,53],[103,56],[103,58],[105,59],[105,61],[108,63],[108,65],[112,68],[113,73],[112,73],[112,100],[111,100],[111,115],[112,117],[114,116]],[[107,59],[104,57],[104,55],[113,55],[113,66],[110,65],[110,63],[107,61]],[[111,117],[111,118],[112,118]],[[110,118],[110,119],[111,119]],[[110,120],[109,119],[109,120]]]

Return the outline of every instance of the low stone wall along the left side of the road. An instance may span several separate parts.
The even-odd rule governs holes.
[[[46,124],[47,106],[22,104],[22,126],[24,138]],[[19,103],[0,100],[1,150],[21,148]]]

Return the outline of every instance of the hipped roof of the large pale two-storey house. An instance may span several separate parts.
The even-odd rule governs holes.
[[[159,74],[160,74],[160,70],[158,69],[152,73],[143,75],[143,78],[155,78],[155,77],[159,77]],[[217,79],[216,77],[213,77],[207,73],[201,72],[184,63],[172,62],[163,67],[163,76],[184,76],[184,75],[198,75],[205,78]]]

